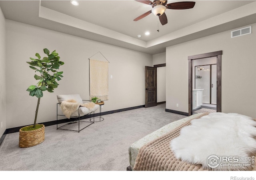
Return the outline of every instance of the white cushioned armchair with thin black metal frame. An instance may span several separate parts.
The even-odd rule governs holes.
[[[57,95],[58,103],[57,103],[57,130],[71,130],[80,132],[84,128],[90,126],[91,124],[94,124],[94,111],[96,111],[100,106],[98,104],[95,104],[93,102],[87,102],[84,103],[84,101],[89,100],[82,100],[79,94],[66,94],[66,95]],[[58,107],[60,106],[60,107]],[[58,112],[58,109],[60,108],[61,112],[63,114],[60,114]],[[91,113],[93,112],[93,118],[91,117]],[[86,115],[90,114],[89,121],[82,120],[84,119]],[[60,127],[58,127],[58,116],[66,116],[68,119],[67,124],[62,124]],[[64,129],[63,127],[74,124],[78,122],[78,130],[75,130],[74,127],[69,129]],[[85,127],[80,127],[80,122],[87,122]]]

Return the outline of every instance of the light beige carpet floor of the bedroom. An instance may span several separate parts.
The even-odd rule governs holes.
[[[186,116],[165,112],[160,104],[102,117],[80,133],[47,126],[45,141],[30,148],[18,147],[18,132],[7,134],[0,146],[0,170],[125,171],[133,142]]]

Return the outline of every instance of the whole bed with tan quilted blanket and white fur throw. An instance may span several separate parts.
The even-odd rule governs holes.
[[[148,134],[128,153],[127,170],[256,170],[256,121],[198,113]]]

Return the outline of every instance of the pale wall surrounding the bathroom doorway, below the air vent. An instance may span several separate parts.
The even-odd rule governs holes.
[[[188,56],[222,50],[222,112],[256,118],[255,29],[252,24],[252,34],[230,38],[229,30],[167,47],[166,108],[188,112]]]

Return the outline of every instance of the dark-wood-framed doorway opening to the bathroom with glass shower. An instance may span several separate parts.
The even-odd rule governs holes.
[[[188,56],[189,116],[193,114],[193,110],[195,111],[196,108],[200,108],[203,105],[206,106],[208,109],[216,108],[217,112],[221,112],[221,55],[222,51],[216,51]],[[204,79],[209,79],[209,81],[206,82],[206,85],[203,85],[202,82],[199,81],[199,79],[202,79],[203,77],[200,77],[202,74],[199,73],[200,71],[202,72],[203,68],[205,68],[204,70],[206,74],[209,74],[209,76],[206,76],[206,74],[204,74]],[[198,71],[198,73],[196,73],[196,71]],[[214,75],[214,73],[216,74],[216,76]],[[197,82],[196,79],[198,79]],[[203,90],[207,88],[209,90],[203,93]],[[193,98],[193,96],[195,99]]]

